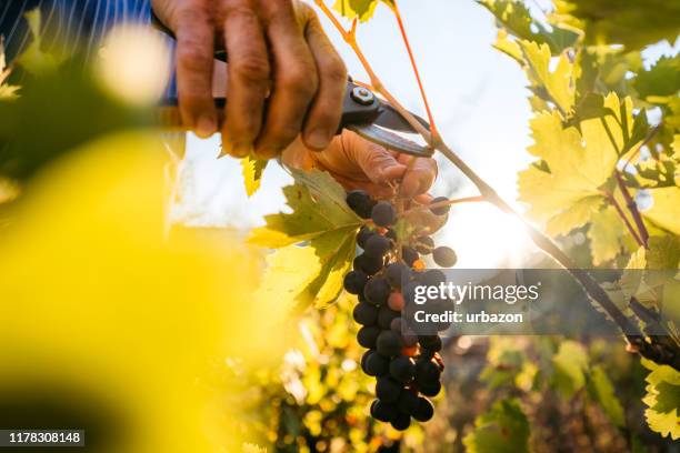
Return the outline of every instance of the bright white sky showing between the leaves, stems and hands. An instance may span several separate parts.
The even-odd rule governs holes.
[[[401,0],[399,6],[444,141],[521,210],[516,202],[516,178],[531,160],[526,152],[531,141],[529,92],[520,67],[491,47],[497,33],[492,16],[472,0]],[[546,1],[528,6],[540,14],[538,8],[546,8]],[[367,81],[352,50],[323,17],[322,23],[349,73]],[[379,6],[373,19],[359,27],[358,40],[392,94],[426,117],[397,23],[387,7]],[[669,48],[660,46],[647,54],[656,58]],[[274,162],[266,170],[260,191],[248,199],[239,162],[216,160],[218,137],[199,140],[190,135],[187,150],[187,203],[179,207],[180,218],[194,224],[247,230],[262,224],[262,215],[286,210],[281,187],[291,180]],[[431,191],[434,195],[478,194],[450,163],[439,160],[439,180]],[[486,203],[454,207],[436,241],[457,251],[459,268],[519,268],[536,251],[517,221]]]

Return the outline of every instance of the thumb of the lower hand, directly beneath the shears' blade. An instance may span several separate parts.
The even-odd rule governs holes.
[[[386,185],[403,177],[407,165],[400,163],[390,151],[356,133],[346,135],[347,153],[372,183]]]

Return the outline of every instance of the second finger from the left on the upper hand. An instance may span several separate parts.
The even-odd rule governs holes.
[[[223,8],[229,102],[222,143],[226,152],[243,158],[262,128],[271,70],[264,32],[251,1],[227,0]],[[212,38],[208,41],[213,42]]]

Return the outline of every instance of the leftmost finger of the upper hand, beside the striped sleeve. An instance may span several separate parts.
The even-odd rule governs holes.
[[[211,94],[214,30],[210,16],[201,8],[186,8],[177,11],[173,22],[182,122],[199,137],[209,137],[218,124]]]

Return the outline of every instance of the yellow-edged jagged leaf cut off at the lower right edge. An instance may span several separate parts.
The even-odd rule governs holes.
[[[670,436],[673,441],[680,439],[680,373],[668,365],[658,365],[642,359],[642,365],[650,370],[646,381],[647,394],[642,402],[648,409],[644,417],[649,427],[661,434]]]

